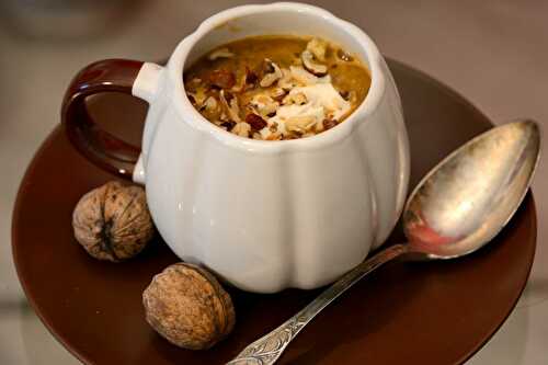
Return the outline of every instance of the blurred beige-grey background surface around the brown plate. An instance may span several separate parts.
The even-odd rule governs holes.
[[[59,123],[70,79],[98,59],[164,58],[202,20],[246,2],[0,1],[0,364],[78,364],[27,306],[10,247],[19,183]],[[309,2],[357,24],[385,55],[448,84],[494,123],[527,116],[548,128],[548,1]],[[539,227],[528,285],[509,320],[468,364],[548,358],[546,148],[543,155],[533,189]]]

